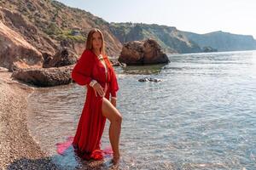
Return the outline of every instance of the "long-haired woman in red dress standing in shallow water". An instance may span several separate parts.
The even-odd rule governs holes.
[[[84,109],[73,139],[75,149],[85,159],[102,159],[100,144],[108,118],[113,163],[118,163],[122,116],[115,107],[119,86],[113,67],[105,54],[104,39],[99,29],[89,32],[86,48],[73,68],[72,78],[79,85],[87,87]]]

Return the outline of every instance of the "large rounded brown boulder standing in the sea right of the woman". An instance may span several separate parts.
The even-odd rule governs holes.
[[[119,62],[126,65],[147,65],[168,63],[170,60],[153,39],[133,41],[124,44]]]

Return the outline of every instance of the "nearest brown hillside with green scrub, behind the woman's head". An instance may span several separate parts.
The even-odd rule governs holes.
[[[51,0],[0,0],[0,20],[17,31],[42,54],[53,55],[61,40],[71,43],[81,54],[91,28],[100,28],[106,39],[109,55],[118,55],[121,43],[109,30],[105,20],[79,8]],[[74,35],[73,32],[79,34]]]

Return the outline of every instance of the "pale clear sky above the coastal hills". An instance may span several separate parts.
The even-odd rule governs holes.
[[[256,39],[256,0],[58,0],[108,22],[175,26],[181,31],[225,31]]]

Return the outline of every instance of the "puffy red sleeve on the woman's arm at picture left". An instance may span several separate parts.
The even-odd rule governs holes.
[[[73,67],[72,79],[79,85],[84,86],[92,81],[91,72],[93,66],[92,56],[88,50],[84,50],[77,64]]]

